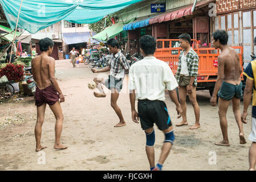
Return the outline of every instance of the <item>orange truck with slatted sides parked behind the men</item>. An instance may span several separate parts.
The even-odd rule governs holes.
[[[200,48],[198,41],[192,39],[192,48],[199,57],[198,75],[197,75],[197,90],[209,90],[212,96],[215,82],[218,76],[218,56],[220,49],[215,48]],[[234,48],[239,55],[239,60],[243,69],[243,47],[236,46]],[[179,39],[158,39],[155,57],[169,64],[175,75],[178,68],[178,57],[182,48],[179,44]],[[241,74],[241,79],[243,76]]]

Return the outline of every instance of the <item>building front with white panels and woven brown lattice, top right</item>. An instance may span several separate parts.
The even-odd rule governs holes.
[[[243,46],[243,61],[251,60],[251,52],[256,53],[253,39],[256,36],[256,2],[252,0],[216,0],[217,16],[212,18],[211,31],[227,31],[229,46]]]

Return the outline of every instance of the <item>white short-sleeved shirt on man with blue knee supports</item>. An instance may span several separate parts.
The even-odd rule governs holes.
[[[129,90],[136,90],[136,100],[165,100],[165,88],[178,86],[169,65],[154,56],[144,57],[129,70]]]

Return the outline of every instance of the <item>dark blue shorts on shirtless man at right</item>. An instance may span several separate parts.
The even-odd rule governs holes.
[[[227,101],[231,100],[233,97],[241,99],[243,98],[242,86],[242,81],[239,85],[233,85],[224,81],[218,92],[218,97]]]

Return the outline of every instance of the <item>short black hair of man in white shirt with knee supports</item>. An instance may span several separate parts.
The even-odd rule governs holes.
[[[145,55],[152,55],[156,51],[156,39],[150,35],[143,35],[140,38],[140,48]]]

